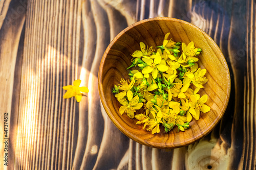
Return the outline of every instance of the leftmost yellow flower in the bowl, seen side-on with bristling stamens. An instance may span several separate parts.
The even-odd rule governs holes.
[[[135,83],[135,80],[134,80],[135,77],[132,78],[132,81],[130,84],[127,83],[126,80],[124,79],[121,79],[120,83],[120,87],[119,89],[120,90],[123,90],[122,92],[120,93],[117,93],[115,95],[116,98],[124,98],[125,95],[127,95],[127,98],[131,99],[133,97],[133,92],[131,91],[131,89],[133,88],[133,85]]]

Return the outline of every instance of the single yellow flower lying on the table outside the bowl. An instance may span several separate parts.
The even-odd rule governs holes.
[[[75,96],[76,101],[80,102],[82,99],[82,93],[81,92],[89,92],[89,89],[87,87],[79,87],[81,84],[81,80],[75,80],[73,82],[73,85],[68,85],[68,86],[63,86],[62,88],[64,90],[68,90],[64,95],[63,98],[64,99],[68,99],[68,98],[72,98],[73,96]]]

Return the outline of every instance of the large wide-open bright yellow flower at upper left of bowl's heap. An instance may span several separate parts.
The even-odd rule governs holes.
[[[146,78],[149,77],[148,74],[152,72],[152,77],[156,79],[158,70],[164,72],[169,68],[165,65],[165,61],[162,61],[162,57],[159,53],[155,55],[154,61],[151,58],[142,58],[142,60],[147,64],[141,71]]]

